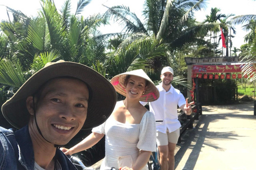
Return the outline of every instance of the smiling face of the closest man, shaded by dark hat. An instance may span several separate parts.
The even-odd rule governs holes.
[[[80,80],[57,78],[48,82],[35,101],[36,120],[43,137],[56,145],[68,143],[86,120],[88,99],[89,90]]]

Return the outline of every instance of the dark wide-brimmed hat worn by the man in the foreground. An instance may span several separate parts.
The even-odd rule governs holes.
[[[47,81],[59,77],[79,79],[85,82],[89,88],[90,101],[82,130],[92,129],[107,120],[117,99],[112,84],[88,66],[64,61],[47,63],[43,69],[33,74],[11,99],[2,105],[2,113],[6,120],[17,129],[27,125],[30,118],[26,107],[27,97],[33,96]]]

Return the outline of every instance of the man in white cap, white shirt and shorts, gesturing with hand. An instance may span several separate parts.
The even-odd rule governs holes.
[[[162,82],[157,89],[160,97],[149,102],[150,111],[154,113],[156,120],[163,120],[161,124],[156,124],[157,146],[160,153],[159,163],[162,170],[174,169],[174,150],[180,136],[180,122],[178,120],[177,105],[187,114],[192,113],[191,106],[188,104],[180,90],[173,88],[173,69],[169,66],[164,67],[161,72]]]

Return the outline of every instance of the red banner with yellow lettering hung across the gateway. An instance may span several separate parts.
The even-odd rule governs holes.
[[[240,73],[241,64],[236,65],[193,65],[193,73]]]

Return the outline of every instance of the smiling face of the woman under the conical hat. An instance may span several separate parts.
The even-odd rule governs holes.
[[[127,80],[126,97],[139,99],[146,90],[146,80],[135,75]]]

